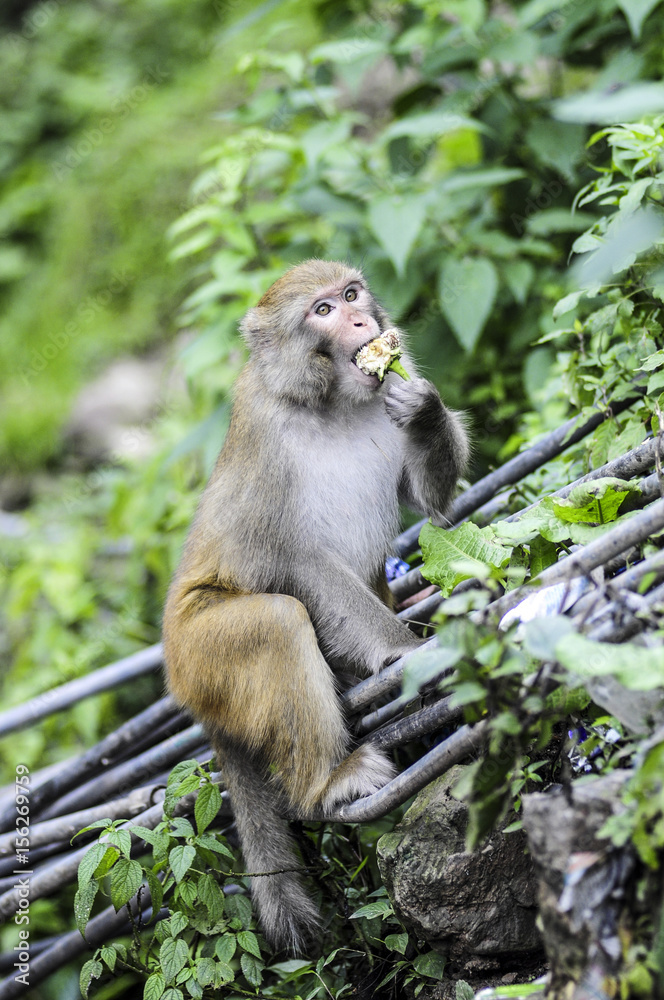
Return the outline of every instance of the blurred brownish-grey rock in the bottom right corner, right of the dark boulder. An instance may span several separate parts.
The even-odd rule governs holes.
[[[523,823],[539,882],[540,919],[551,968],[548,997],[615,995],[621,927],[633,875],[629,848],[598,832],[622,810],[627,771],[523,797]],[[590,992],[589,992],[590,991]]]

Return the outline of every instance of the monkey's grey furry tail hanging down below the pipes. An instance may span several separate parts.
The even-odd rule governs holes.
[[[303,869],[283,801],[250,754],[214,734],[219,767],[231,797],[246,870],[265,872],[251,879],[251,897],[270,944],[301,955],[315,940],[320,914],[300,872]]]

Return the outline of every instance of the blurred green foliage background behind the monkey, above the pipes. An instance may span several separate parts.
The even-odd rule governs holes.
[[[364,269],[469,411],[473,477],[568,415],[536,342],[589,137],[664,110],[658,0],[45,0],[0,32],[4,706],[158,641],[238,319],[290,264]],[[160,689],[1,741],[8,773]]]

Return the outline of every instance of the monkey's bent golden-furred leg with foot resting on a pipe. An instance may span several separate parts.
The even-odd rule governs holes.
[[[346,757],[334,677],[295,598],[192,591],[167,610],[164,644],[174,696],[264,761],[296,816],[369,795],[392,777],[370,745]]]

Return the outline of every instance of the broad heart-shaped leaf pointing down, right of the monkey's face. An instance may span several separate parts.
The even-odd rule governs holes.
[[[445,319],[466,351],[471,352],[486,323],[498,291],[498,275],[482,257],[447,257],[438,280]]]

